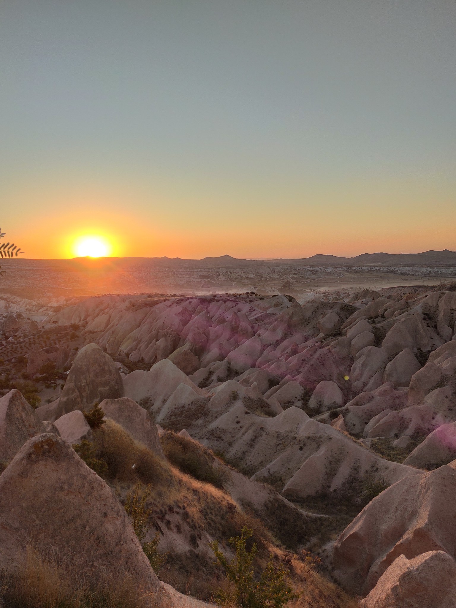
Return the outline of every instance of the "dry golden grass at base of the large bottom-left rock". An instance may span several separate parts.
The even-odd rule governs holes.
[[[147,596],[131,582],[97,576],[71,575],[52,556],[28,547],[14,574],[1,579],[5,608],[145,608]]]

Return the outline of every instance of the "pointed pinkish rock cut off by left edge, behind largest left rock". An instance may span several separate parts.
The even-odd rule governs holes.
[[[10,390],[0,399],[0,460],[11,460],[30,437],[44,432],[44,424],[21,392]]]

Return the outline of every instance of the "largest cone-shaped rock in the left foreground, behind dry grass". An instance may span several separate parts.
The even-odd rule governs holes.
[[[0,571],[14,572],[24,551],[52,547],[73,576],[126,577],[146,592],[162,587],[114,492],[60,437],[27,441],[0,476]]]

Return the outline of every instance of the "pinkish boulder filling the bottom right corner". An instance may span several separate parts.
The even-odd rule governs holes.
[[[454,608],[456,562],[444,551],[416,558],[399,555],[379,578],[360,608]]]

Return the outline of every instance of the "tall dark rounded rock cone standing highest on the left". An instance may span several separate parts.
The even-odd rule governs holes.
[[[88,344],[76,355],[60,395],[60,415],[73,410],[90,411],[95,402],[123,396],[122,377],[109,354]],[[51,420],[51,422],[57,420]]]

